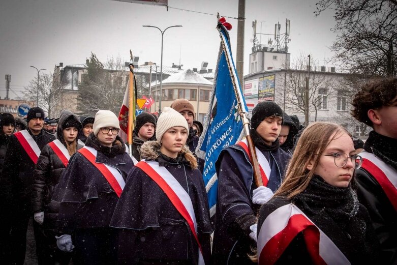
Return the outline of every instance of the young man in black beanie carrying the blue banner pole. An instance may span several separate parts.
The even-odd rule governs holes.
[[[290,158],[290,154],[279,148],[278,136],[283,123],[280,106],[263,101],[252,113],[250,135],[258,162],[265,172],[262,175],[264,186],[257,187],[253,181],[253,167],[245,140],[221,152],[216,162],[218,202],[213,264],[250,264],[248,254],[251,247],[256,246],[250,236],[250,226],[257,222],[260,205],[280,187]]]

